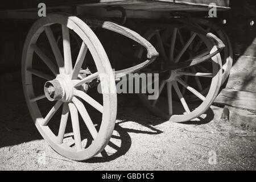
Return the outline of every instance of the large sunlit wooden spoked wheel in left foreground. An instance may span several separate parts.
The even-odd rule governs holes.
[[[59,51],[59,48],[56,46],[56,39],[54,38],[54,35],[51,31],[50,26],[52,26],[52,24],[59,24],[61,26],[63,37],[65,39],[63,41],[63,49],[65,49],[63,53],[64,62],[62,63],[62,55]],[[72,58],[70,51],[71,48],[69,43],[70,30],[73,30],[83,42],[74,69],[72,68]],[[36,47],[36,42],[42,32],[46,32],[49,43],[51,44],[53,54],[56,57],[56,62],[59,69],[56,69],[52,61],[48,61],[47,58],[42,55],[42,53],[40,54],[40,52],[42,51],[40,51],[40,49]],[[104,88],[105,92],[102,93],[103,105],[96,104],[93,98],[90,98],[85,92],[78,90],[77,87],[79,86],[79,82],[81,81],[77,80],[77,76],[79,75],[79,70],[84,61],[84,56],[87,49],[92,55],[94,64],[97,68],[96,73],[87,77],[88,80],[95,80],[95,78],[97,78],[97,75],[100,75],[100,80],[102,80],[101,74],[108,76],[108,79],[104,81],[106,86]],[[51,72],[55,73],[53,79],[52,76],[46,75],[42,72],[40,73],[32,69],[33,56],[35,54],[41,55],[40,57],[44,61],[44,63],[47,63],[49,69],[51,69]],[[51,85],[53,86],[54,91],[56,91],[57,89],[63,91],[63,93],[61,94],[56,94],[57,91],[54,92],[57,95],[57,97],[54,97],[54,99],[57,101],[55,106],[52,107],[46,117],[42,116],[41,110],[39,109],[40,107],[38,105],[38,101],[43,99],[45,96],[35,96],[35,83],[32,80],[32,75],[40,75],[39,77],[44,77],[46,78],[46,80],[56,82],[59,81],[59,87],[56,86],[56,82],[54,84],[52,82],[47,82],[48,84],[46,84],[45,89],[49,89],[49,85]],[[46,18],[39,19],[34,23],[30,31],[28,32],[26,42],[23,48],[22,81],[24,95],[26,98],[28,109],[30,110],[31,117],[34,120],[40,134],[42,134],[43,138],[47,140],[47,142],[55,151],[73,160],[85,160],[91,158],[94,155],[97,155],[105,148],[112,135],[117,112],[117,97],[115,91],[114,76],[108,60],[108,56],[106,55],[104,48],[102,47],[94,32],[90,30],[90,28],[84,22],[82,22],[82,20],[75,16],[69,16],[67,14],[51,14],[48,15]],[[50,89],[46,90],[45,93],[48,93],[48,91],[49,93],[51,93]],[[84,100],[89,104],[93,103],[93,107],[96,107],[97,110],[101,110],[102,121],[100,129],[98,129],[98,131],[95,129],[93,122],[90,121],[88,112],[86,111],[85,106],[81,100]],[[63,105],[63,111],[60,119],[61,121],[59,133],[58,135],[55,135],[47,126],[47,123],[51,122],[48,120],[51,119],[52,113],[54,114],[55,110],[58,110],[61,105]],[[75,138],[75,148],[61,143],[63,142],[63,136],[59,135],[64,135],[65,133],[65,127],[67,125],[67,118],[69,113],[71,114],[72,128]],[[89,144],[89,146],[86,148],[81,147],[78,113],[80,113],[82,119],[87,126],[87,129],[93,137],[93,142]],[[43,126],[42,124],[45,124],[46,126]]]

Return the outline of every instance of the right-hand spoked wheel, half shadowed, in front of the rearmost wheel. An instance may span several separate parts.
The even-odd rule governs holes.
[[[187,38],[181,36],[181,32],[184,33],[184,31],[187,32]],[[160,53],[155,65],[152,63],[151,68],[154,66],[159,67],[157,64],[167,63],[168,61],[169,63],[180,63],[189,57],[191,58],[191,55],[193,58],[205,56],[216,49],[212,40],[209,40],[204,35],[197,35],[188,28],[167,27],[161,30],[151,29],[145,37],[156,46]],[[193,41],[201,44],[199,52],[191,53],[189,50],[189,46]],[[143,57],[144,50],[138,48],[136,56],[139,59]],[[158,97],[155,100],[148,100],[148,94],[142,93],[139,94],[139,98],[152,113],[164,119],[170,119],[173,122],[185,122],[197,118],[210,107],[218,94],[222,78],[221,65],[221,57],[218,53],[210,61],[205,61],[192,67],[176,69],[168,73],[160,71]],[[209,67],[211,71],[199,72],[197,67]],[[190,81],[194,80],[195,77],[204,78],[204,82],[201,81],[201,90],[208,88],[208,85],[210,85],[207,94],[203,95],[197,91],[198,82]],[[183,97],[186,89],[199,98],[200,101],[187,103],[185,101],[186,97]],[[164,90],[166,93],[164,93]],[[177,101],[175,98],[177,98]],[[180,107],[183,109],[180,109]]]

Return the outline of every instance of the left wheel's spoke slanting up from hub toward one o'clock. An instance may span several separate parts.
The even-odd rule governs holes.
[[[82,46],[80,48],[79,55],[77,56],[77,59],[76,59],[75,67],[73,69],[72,80],[76,79],[77,76],[79,75],[79,71],[82,67],[82,63],[84,62],[87,49],[88,49],[88,47],[86,46],[86,44],[84,42],[82,42]]]

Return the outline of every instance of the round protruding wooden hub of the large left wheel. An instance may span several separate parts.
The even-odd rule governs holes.
[[[58,75],[54,80],[44,84],[44,94],[49,101],[70,102],[73,98],[73,84],[70,76]]]

